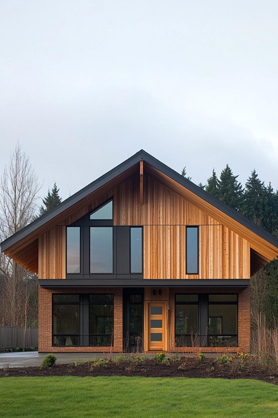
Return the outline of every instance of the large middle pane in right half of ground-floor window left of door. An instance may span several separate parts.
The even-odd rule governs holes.
[[[89,334],[112,334],[113,305],[89,305]]]

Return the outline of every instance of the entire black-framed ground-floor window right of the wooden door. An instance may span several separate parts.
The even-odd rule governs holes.
[[[236,294],[175,295],[175,343],[177,347],[190,347],[196,338],[208,347],[237,345]]]

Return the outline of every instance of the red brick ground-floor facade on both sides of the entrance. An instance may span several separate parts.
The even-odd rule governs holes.
[[[122,288],[41,288],[39,286],[39,352],[110,352],[111,347],[53,347],[53,293],[113,293],[114,346],[112,352],[123,351],[123,289]],[[250,351],[250,289],[248,288],[170,288],[168,299],[168,346],[172,351],[191,352],[192,348],[175,347],[175,293],[238,293],[239,347],[203,347],[203,352]]]

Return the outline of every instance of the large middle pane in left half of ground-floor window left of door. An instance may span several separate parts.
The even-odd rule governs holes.
[[[79,305],[53,305],[53,334],[79,334]]]

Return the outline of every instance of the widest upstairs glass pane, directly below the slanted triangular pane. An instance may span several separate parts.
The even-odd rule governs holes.
[[[90,228],[90,273],[113,273],[113,228]]]

